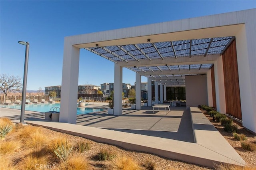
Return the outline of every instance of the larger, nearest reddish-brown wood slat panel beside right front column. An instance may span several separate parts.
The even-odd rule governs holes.
[[[226,112],[227,114],[242,120],[236,40],[234,40],[223,53],[222,61],[226,96]]]

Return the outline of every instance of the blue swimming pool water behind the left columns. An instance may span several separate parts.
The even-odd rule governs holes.
[[[10,108],[10,109],[21,109],[21,105],[0,105],[0,107]],[[52,107],[60,108],[60,103],[26,105],[25,110],[26,111],[35,111],[35,112],[47,112],[47,111],[50,111],[50,109]],[[81,114],[87,114],[87,113],[92,113],[92,112],[99,112],[99,111],[103,111],[103,110],[104,109],[77,108],[76,114],[81,115]],[[54,111],[56,111],[56,109]]]

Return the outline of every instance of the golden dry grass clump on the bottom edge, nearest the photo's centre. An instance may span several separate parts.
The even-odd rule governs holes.
[[[107,166],[108,170],[144,170],[136,160],[129,156],[118,156]]]

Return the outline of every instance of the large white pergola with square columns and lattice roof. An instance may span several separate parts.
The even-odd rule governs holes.
[[[186,76],[206,74],[212,106],[210,68],[214,66],[216,108],[226,113],[222,55],[236,40],[243,125],[256,132],[255,16],[252,9],[65,37],[60,121],[76,123],[81,48],[114,62],[114,115],[122,115],[123,67],[136,72],[136,109],[141,109],[141,76],[148,78],[148,85],[154,80],[162,91],[166,86],[185,86]],[[160,93],[160,98],[166,96]],[[148,88],[150,104],[151,99]]]

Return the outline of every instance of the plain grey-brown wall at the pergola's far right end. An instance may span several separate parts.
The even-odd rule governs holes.
[[[208,105],[206,75],[190,75],[185,77],[187,107]]]

